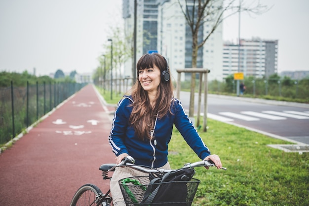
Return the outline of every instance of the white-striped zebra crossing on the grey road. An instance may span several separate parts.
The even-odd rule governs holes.
[[[202,115],[202,114],[201,114]],[[243,121],[261,121],[263,119],[269,120],[286,120],[292,119],[309,119],[309,111],[240,111],[236,112],[219,112],[218,114],[207,113],[210,119],[218,120],[221,122],[232,122],[234,119]]]

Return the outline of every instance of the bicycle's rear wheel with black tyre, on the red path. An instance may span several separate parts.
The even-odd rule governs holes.
[[[101,190],[93,184],[81,186],[75,193],[70,206],[98,206]],[[100,204],[99,206],[103,206]]]

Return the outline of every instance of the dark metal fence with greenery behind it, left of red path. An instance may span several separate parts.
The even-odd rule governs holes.
[[[26,87],[0,88],[0,144],[35,123],[85,84],[43,83]]]

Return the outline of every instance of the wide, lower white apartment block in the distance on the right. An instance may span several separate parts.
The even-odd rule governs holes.
[[[243,72],[244,76],[269,77],[277,72],[278,40],[240,39],[240,44],[225,42],[223,76]]]

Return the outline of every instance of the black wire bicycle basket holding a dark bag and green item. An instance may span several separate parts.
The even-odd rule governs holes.
[[[150,184],[149,176],[120,179],[120,189],[127,206],[191,206],[199,180]],[[145,201],[146,190],[151,190],[151,202]]]

